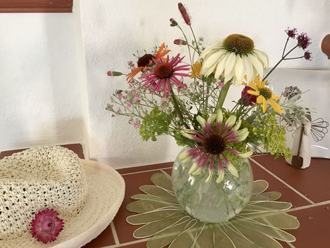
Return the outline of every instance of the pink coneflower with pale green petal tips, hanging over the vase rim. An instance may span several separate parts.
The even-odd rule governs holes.
[[[216,120],[216,125],[213,125]],[[209,161],[209,176],[206,182],[210,182],[215,164],[218,166],[217,183],[223,180],[223,166],[227,166],[228,171],[233,176],[238,177],[237,169],[228,159],[228,154],[231,153],[244,158],[252,155],[252,151],[240,153],[230,147],[230,144],[239,143],[246,139],[249,135],[247,128],[239,130],[241,121],[235,125],[236,116],[230,116],[223,124],[223,114],[220,109],[217,114],[212,114],[207,118],[207,121],[201,116],[197,116],[197,121],[201,124],[201,131],[186,129],[182,130],[182,135],[196,141],[198,145],[180,153],[179,160],[182,162],[194,161],[189,170],[192,175],[201,173]]]

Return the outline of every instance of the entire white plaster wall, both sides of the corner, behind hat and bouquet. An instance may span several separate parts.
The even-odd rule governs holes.
[[[171,138],[142,141],[127,118],[111,118],[104,108],[113,91],[125,87],[125,78],[111,79],[106,72],[127,70],[133,52],[143,54],[166,42],[173,53],[185,54],[184,47],[172,45],[182,35],[168,21],[175,18],[189,34],[178,1],[81,0],[81,8],[78,3],[69,14],[0,14],[0,150],[79,142],[89,144],[91,158],[117,168],[173,161],[178,147]],[[327,0],[184,3],[205,44],[243,33],[269,54],[273,66],[281,56],[284,30],[297,27],[313,38],[313,61],[288,61],[281,67],[330,68],[319,48],[330,30]],[[299,84],[310,84],[318,72],[311,73]],[[327,82],[329,74],[322,75]],[[296,79],[304,77],[292,76],[292,82]],[[230,95],[237,93],[238,88]]]

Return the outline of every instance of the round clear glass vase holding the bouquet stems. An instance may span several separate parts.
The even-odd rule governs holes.
[[[225,166],[225,176],[221,183],[216,182],[217,168],[214,168],[210,182],[206,183],[208,164],[205,164],[200,174],[193,176],[189,174],[193,162],[182,163],[176,157],[172,171],[173,191],[189,215],[203,222],[221,223],[243,210],[253,190],[252,169],[247,159],[234,156],[230,161],[238,171],[238,178]]]

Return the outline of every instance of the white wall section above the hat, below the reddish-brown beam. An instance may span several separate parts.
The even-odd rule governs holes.
[[[0,150],[84,142],[79,11],[1,13],[0,33]]]

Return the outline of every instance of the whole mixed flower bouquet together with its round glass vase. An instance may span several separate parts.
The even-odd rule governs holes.
[[[183,146],[173,166],[175,196],[194,217],[221,222],[249,201],[253,178],[246,158],[252,149],[291,156],[285,146],[285,125],[278,119],[299,125],[306,109],[297,100],[301,93],[281,99],[267,78],[281,61],[311,60],[306,50],[311,39],[297,29],[285,30],[281,59],[265,73],[268,56],[256,49],[251,38],[235,33],[204,47],[203,38],[196,38],[191,28],[187,8],[182,3],[178,8],[192,41],[171,18],[170,25],[184,37],[173,43],[187,47],[189,56],[171,54],[164,43],[141,56],[134,54],[136,63],[128,62],[129,72],[107,72],[111,77],[124,75],[127,81],[125,89],[113,93],[107,110],[113,116],[127,116],[145,141],[169,134]],[[295,50],[301,56],[292,56]],[[242,87],[242,94],[227,109],[223,103],[230,87]],[[205,214],[207,210],[226,216],[214,219]]]

